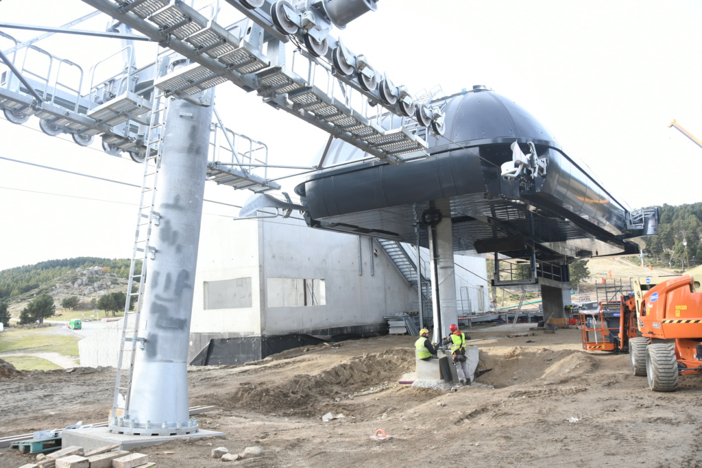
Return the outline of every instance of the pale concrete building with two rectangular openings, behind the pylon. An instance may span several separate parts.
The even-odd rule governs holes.
[[[414,260],[416,249],[406,249]],[[428,265],[428,250],[422,250]],[[480,305],[489,305],[483,255],[455,260],[459,311],[465,309],[461,300],[470,299],[472,312],[482,312]],[[260,359],[262,336],[373,332],[385,329],[383,316],[416,310],[416,289],[375,239],[361,237],[359,256],[358,236],[312,229],[300,220],[205,217],[188,360],[208,352],[211,343],[216,348],[208,353],[244,349],[237,339],[246,344],[237,352],[246,355],[237,355],[237,362]],[[119,330],[105,333],[112,335],[81,340],[81,365],[114,366]],[[232,356],[225,357],[231,361]]]

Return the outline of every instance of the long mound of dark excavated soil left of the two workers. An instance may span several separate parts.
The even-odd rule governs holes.
[[[216,404],[265,413],[306,414],[320,401],[396,381],[413,366],[412,349],[388,349],[344,359],[314,375],[297,374],[289,380],[273,382],[241,382],[232,392],[220,394],[221,401]]]

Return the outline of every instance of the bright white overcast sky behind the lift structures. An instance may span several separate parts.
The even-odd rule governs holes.
[[[233,11],[221,4],[223,14]],[[91,11],[79,0],[1,0],[0,22],[60,26]],[[102,31],[107,21],[100,15],[77,28]],[[668,128],[677,119],[702,138],[701,21],[697,0],[380,0],[376,13],[332,34],[412,93],[438,84],[452,94],[482,84],[515,100],[619,201],[640,208],[702,201],[702,148]],[[0,31],[22,40],[40,34]],[[10,45],[0,38],[0,50]],[[37,46],[88,74],[119,41],[55,35]],[[270,109],[256,93],[225,83],[217,94],[225,124],[265,142],[270,163],[312,164],[326,142],[326,134]],[[137,164],[107,156],[99,145],[44,135],[36,118],[16,126],[0,116],[0,156],[141,182]],[[0,159],[0,269],[130,257],[138,192]],[[206,184],[209,200],[241,204],[248,194]],[[205,216],[237,214],[234,207],[204,206]]]

